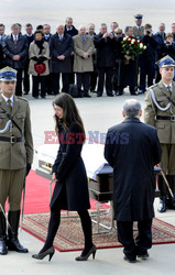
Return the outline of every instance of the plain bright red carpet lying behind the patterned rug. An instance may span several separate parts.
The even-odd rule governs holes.
[[[95,202],[96,200],[90,199],[91,209],[96,209]],[[109,208],[109,206],[103,204],[102,208]],[[50,180],[31,170],[26,177],[24,213],[43,212],[50,212]]]

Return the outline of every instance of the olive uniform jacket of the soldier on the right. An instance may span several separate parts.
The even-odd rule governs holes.
[[[175,121],[156,120],[156,116],[175,116],[175,106],[171,103],[167,110],[160,110],[152,100],[151,89],[154,92],[155,100],[158,106],[161,108],[165,108],[169,103],[169,100],[165,95],[167,95],[175,102],[175,82],[173,81],[172,92],[167,90],[162,80],[158,84],[151,86],[146,92],[144,109],[144,122],[156,128],[160,142],[164,144],[175,144]]]

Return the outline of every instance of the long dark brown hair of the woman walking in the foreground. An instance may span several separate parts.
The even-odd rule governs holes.
[[[54,116],[55,121],[56,121],[56,125],[55,125],[56,132],[58,132],[59,123],[62,122],[65,131],[68,130],[68,127],[76,124],[80,128],[81,133],[85,134],[84,123],[81,121],[78,109],[77,109],[72,96],[69,96],[65,92],[62,92],[61,95],[57,95],[54,98],[53,106],[54,105],[61,107],[63,109],[63,112],[64,112],[62,120],[58,119],[58,117],[56,114]]]

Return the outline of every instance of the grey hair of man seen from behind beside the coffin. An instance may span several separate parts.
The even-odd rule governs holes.
[[[128,99],[124,101],[123,111],[128,118],[135,118],[140,114],[141,103],[136,99]]]

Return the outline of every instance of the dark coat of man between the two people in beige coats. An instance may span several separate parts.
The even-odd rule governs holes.
[[[62,41],[59,41],[57,33],[51,36],[51,73],[72,73],[70,53],[73,48],[73,38],[70,35],[64,34]],[[58,55],[64,55],[66,58],[64,61],[58,61]]]

